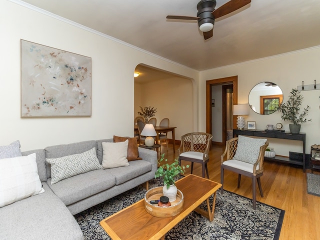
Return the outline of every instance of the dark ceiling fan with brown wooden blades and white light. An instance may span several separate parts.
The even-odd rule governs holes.
[[[251,0],[230,0],[217,9],[214,9],[216,0],[200,0],[196,4],[198,12],[196,16],[175,16],[167,15],[167,19],[182,19],[182,20],[197,20],[200,31],[203,32],[204,39],[208,39],[213,35],[214,19],[224,16],[232,11],[235,11]]]

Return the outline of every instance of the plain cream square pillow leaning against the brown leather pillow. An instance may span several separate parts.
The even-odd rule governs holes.
[[[113,168],[118,166],[128,166],[126,159],[128,140],[121,142],[102,142],[102,167]]]

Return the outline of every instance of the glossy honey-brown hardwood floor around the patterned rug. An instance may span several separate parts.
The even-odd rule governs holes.
[[[161,146],[161,153],[169,162],[178,157],[178,146],[173,153],[172,144]],[[210,179],[220,182],[220,156],[224,147],[212,147],[208,171]],[[189,164],[183,162],[182,164]],[[190,172],[187,168],[186,173]],[[306,170],[306,172],[311,172]],[[264,171],[261,177],[263,197],[256,190],[256,200],[285,210],[280,240],[286,239],[320,239],[320,197],[307,193],[306,172],[302,168],[264,161]],[[313,171],[315,174],[320,172]],[[201,175],[201,165],[194,163],[193,174]],[[320,183],[319,183],[320,184]],[[252,198],[251,179],[242,176],[240,188],[237,188],[237,174],[228,170],[224,171],[223,189]]]

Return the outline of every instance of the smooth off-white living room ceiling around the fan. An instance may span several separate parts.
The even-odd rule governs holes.
[[[23,0],[196,70],[320,45],[320,0],[252,0],[203,39],[198,0]],[[217,0],[216,8],[228,0]]]

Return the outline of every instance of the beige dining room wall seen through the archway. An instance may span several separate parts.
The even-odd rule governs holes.
[[[139,106],[155,107],[157,125],[162,118],[169,118],[170,126],[176,126],[175,139],[180,140],[181,135],[193,131],[193,87],[191,79],[176,76],[135,83],[134,115],[138,116]],[[172,139],[171,132],[168,133],[168,138]]]

